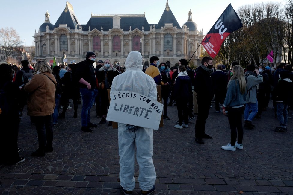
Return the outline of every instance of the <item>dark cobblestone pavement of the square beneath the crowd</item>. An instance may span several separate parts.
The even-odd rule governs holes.
[[[98,124],[95,109],[91,121]],[[53,127],[54,151],[33,157],[37,132],[25,114],[19,147],[26,160],[0,166],[0,194],[122,194],[117,129],[106,123],[92,133],[82,132],[78,105],[78,118],[68,109]],[[154,130],[154,194],[293,194],[293,119],[288,119],[288,132],[274,132],[278,120],[271,104],[261,119],[253,120],[253,130],[244,129],[244,149],[235,152],[221,149],[230,141],[230,128],[228,117],[216,113],[214,105],[206,123],[213,139],[204,145],[194,142],[196,118],[189,128],[176,129],[176,106],[168,107],[168,116],[171,120],[164,119],[164,127]],[[138,173],[135,164],[136,179]],[[140,194],[138,182],[133,194]]]

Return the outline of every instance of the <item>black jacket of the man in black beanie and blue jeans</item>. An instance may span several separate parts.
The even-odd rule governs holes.
[[[76,64],[76,69],[73,72],[75,82],[79,83],[79,80],[83,78],[88,83],[90,83],[91,89],[95,89],[97,86],[95,69],[93,67],[93,61],[86,59]],[[86,85],[79,83],[80,88],[87,88]]]

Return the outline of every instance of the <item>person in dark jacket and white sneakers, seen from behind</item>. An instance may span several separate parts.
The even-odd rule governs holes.
[[[173,99],[176,100],[177,111],[178,111],[178,123],[175,128],[182,129],[183,127],[188,128],[188,114],[189,110],[187,103],[192,99],[192,88],[191,80],[187,75],[186,68],[184,65],[178,66],[178,76],[175,79],[175,85],[173,89]],[[183,112],[183,115],[182,115]],[[184,119],[184,124],[182,121]]]

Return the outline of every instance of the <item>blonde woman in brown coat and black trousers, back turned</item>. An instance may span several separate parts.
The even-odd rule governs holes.
[[[38,61],[35,65],[35,73],[25,85],[28,92],[28,115],[35,121],[39,149],[32,156],[45,156],[45,152],[53,151],[53,129],[51,114],[55,108],[56,79],[50,66],[44,61]]]

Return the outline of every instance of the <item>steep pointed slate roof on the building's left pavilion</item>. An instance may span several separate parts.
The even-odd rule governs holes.
[[[78,26],[80,25],[80,23],[78,22],[75,16],[72,5],[68,2],[66,2],[66,7],[61,13],[61,15],[59,16],[54,27],[57,28],[59,27],[60,24],[67,24],[67,27],[69,27],[70,29],[75,29],[76,24]]]

